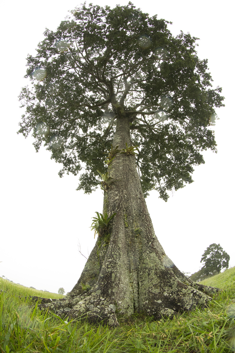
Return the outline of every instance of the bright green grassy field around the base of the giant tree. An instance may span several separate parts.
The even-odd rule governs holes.
[[[173,320],[135,315],[128,322],[120,319],[120,327],[112,329],[40,312],[29,298],[39,291],[0,279],[0,352],[235,352],[235,268],[201,283],[223,289],[208,307]]]

